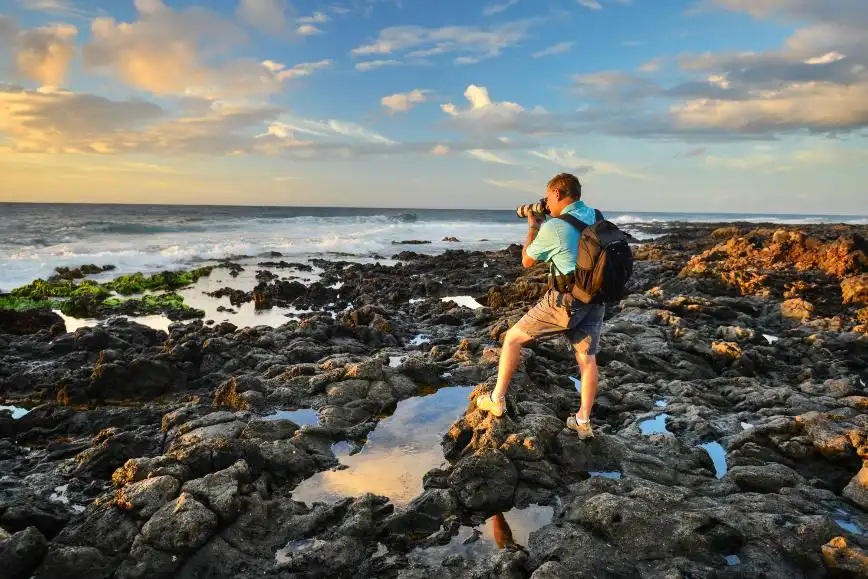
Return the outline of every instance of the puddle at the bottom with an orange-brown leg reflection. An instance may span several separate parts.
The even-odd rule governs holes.
[[[527,547],[530,534],[551,523],[553,517],[552,507],[540,505],[497,513],[489,517],[481,528],[462,526],[448,544],[414,549],[407,554],[407,559],[412,563],[439,567],[451,555],[476,561],[511,545]]]

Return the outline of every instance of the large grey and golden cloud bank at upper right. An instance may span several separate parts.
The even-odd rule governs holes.
[[[868,127],[868,11],[862,0],[707,0],[798,23],[777,48],[682,54],[680,83],[619,71],[574,77],[586,131],[683,140],[840,135]],[[656,68],[646,65],[644,68]],[[692,78],[690,78],[692,77]]]

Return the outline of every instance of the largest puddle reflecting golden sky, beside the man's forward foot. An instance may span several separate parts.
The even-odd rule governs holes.
[[[372,492],[389,497],[397,506],[409,503],[422,492],[422,476],[443,465],[440,441],[467,407],[472,390],[451,386],[402,400],[391,416],[377,424],[359,452],[336,453],[340,470],[319,472],[302,481],[292,492],[293,500],[312,505]]]

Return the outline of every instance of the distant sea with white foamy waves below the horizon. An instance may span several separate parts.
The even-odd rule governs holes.
[[[671,221],[868,225],[868,216],[852,215],[605,213],[640,239],[647,237],[643,224]],[[58,266],[86,263],[114,265],[112,275],[120,275],[269,251],[287,261],[370,261],[404,249],[498,250],[521,243],[526,227],[511,209],[0,203],[0,291],[48,277]],[[431,243],[392,243],[404,240]]]

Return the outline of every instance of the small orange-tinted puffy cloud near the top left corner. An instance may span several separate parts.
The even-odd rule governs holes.
[[[71,24],[20,30],[13,20],[0,16],[0,50],[8,45],[16,73],[43,85],[63,84],[77,34]]]

